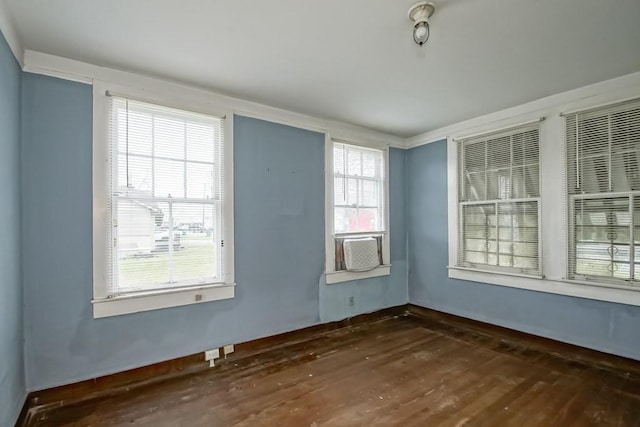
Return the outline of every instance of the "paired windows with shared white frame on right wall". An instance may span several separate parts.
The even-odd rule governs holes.
[[[449,278],[640,306],[636,77],[443,133]]]

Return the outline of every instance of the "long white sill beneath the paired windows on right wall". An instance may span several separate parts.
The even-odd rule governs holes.
[[[640,306],[640,288],[448,267],[450,279]]]

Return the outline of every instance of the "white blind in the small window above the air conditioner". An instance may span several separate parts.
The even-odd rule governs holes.
[[[334,232],[384,231],[382,150],[334,142]]]

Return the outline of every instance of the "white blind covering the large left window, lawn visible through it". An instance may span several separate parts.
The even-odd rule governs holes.
[[[221,282],[219,117],[109,97],[108,295]]]

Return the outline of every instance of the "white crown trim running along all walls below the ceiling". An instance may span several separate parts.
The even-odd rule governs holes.
[[[0,12],[2,12],[1,8]],[[6,14],[0,13],[0,28],[3,30],[5,28],[11,28]],[[15,34],[10,29],[7,30],[7,33]],[[16,50],[20,51],[21,48],[16,37],[7,36],[6,34],[5,37],[12,47],[12,50],[14,50],[14,54],[16,54]],[[18,57],[17,54],[16,57]],[[539,116],[542,111],[548,111],[559,105],[580,109],[582,105],[593,105],[594,102],[596,102],[594,98],[599,100],[600,103],[606,103],[629,98],[630,96],[634,96],[634,94],[640,96],[640,72],[636,72],[550,95],[405,139],[350,123],[308,116],[234,98],[182,82],[100,67],[47,53],[25,50],[24,55],[20,55],[19,61],[23,64],[23,70],[26,72],[58,77],[85,84],[92,84],[94,80],[102,80],[141,89],[143,91],[155,91],[162,87],[176,94],[182,94],[183,97],[187,98],[202,98],[206,96],[211,105],[223,105],[225,110],[231,109],[235,114],[241,116],[258,118],[320,133],[331,133],[334,138],[375,148],[390,146],[409,149],[440,141],[453,135],[459,136],[470,132],[478,133],[503,125],[506,127],[514,122],[527,120],[536,115]]]

